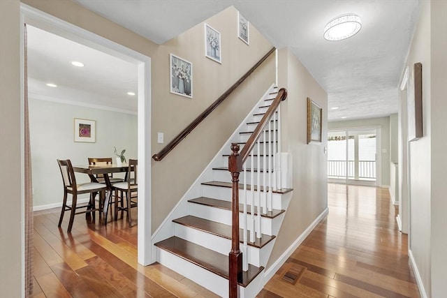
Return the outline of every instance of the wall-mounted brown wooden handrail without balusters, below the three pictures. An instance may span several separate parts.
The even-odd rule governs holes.
[[[189,133],[191,133],[191,131],[193,131],[193,129],[196,128],[198,124],[200,124],[200,122],[202,122],[212,111],[216,109],[216,107],[218,107],[223,102],[223,100],[225,100],[237,87],[239,87],[239,85],[242,84],[242,82],[244,82],[244,80],[247,79],[247,77],[249,77],[249,75],[251,75],[251,73],[253,73],[254,70],[256,70],[256,68],[258,68],[258,66],[260,66],[270,56],[270,54],[274,52],[274,50],[276,50],[276,48],[272,47],[272,49],[268,51],[268,53],[265,54],[264,57],[261,58],[261,60],[259,60],[252,68],[250,68],[247,73],[242,75],[242,77],[240,77],[237,82],[235,82],[230,88],[228,88],[227,91],[219,96],[219,98],[217,98],[217,100],[215,100],[214,103],[210,105],[210,107],[207,107],[207,109],[203,111],[202,114],[198,115],[198,117],[194,119],[191,124],[189,124],[189,126],[186,126],[186,128],[184,128],[184,130],[179,133],[177,137],[170,141],[169,144],[166,145],[166,147],[161,149],[159,153],[154,154],[152,156],[154,161],[161,161],[171,150],[173,150],[179,144],[179,142],[182,142],[186,135],[189,135]]]

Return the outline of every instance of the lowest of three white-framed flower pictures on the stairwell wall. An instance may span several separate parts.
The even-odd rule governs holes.
[[[193,98],[193,64],[175,54],[170,57],[170,93]]]

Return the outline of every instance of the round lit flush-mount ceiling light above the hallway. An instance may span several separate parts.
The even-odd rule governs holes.
[[[344,40],[354,36],[362,28],[358,15],[340,15],[324,27],[324,38],[330,41]]]

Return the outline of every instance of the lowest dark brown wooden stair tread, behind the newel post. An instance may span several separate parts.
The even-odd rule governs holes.
[[[228,255],[222,255],[175,236],[160,241],[155,246],[228,279]],[[248,271],[242,271],[242,281],[239,285],[247,287],[263,269],[262,266],[256,267],[249,264]]]

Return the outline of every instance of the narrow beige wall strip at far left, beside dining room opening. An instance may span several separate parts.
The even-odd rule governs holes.
[[[22,296],[20,1],[0,1],[0,297]]]

